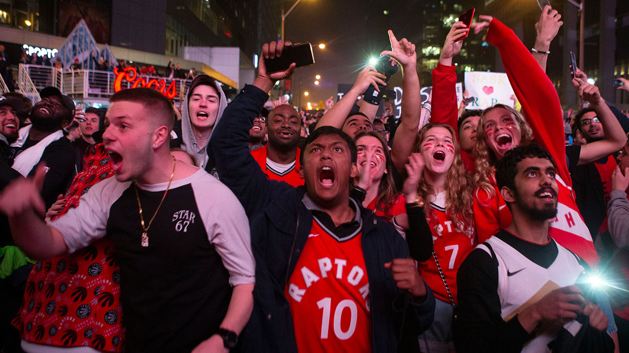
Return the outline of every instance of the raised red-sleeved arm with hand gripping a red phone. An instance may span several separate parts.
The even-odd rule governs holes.
[[[445,37],[445,43],[439,55],[439,63],[432,72],[432,110],[431,122],[448,124],[457,131],[459,109],[457,107],[457,73],[452,65],[452,58],[459,54],[463,37],[469,32],[462,22],[455,22]]]

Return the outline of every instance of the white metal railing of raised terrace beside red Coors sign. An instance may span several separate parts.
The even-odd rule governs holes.
[[[165,77],[138,75],[136,79],[144,79],[149,82],[151,79],[157,81],[164,80],[168,87],[171,82],[175,81],[175,102],[184,99],[188,87],[192,80],[183,79],[167,79]],[[38,92],[43,87],[54,86],[65,94],[77,100],[85,99],[107,99],[115,93],[114,82],[116,75],[109,71],[99,70],[57,70],[55,67],[42,65],[19,65],[19,89],[21,92],[30,97],[29,94]],[[121,89],[129,89],[133,82],[122,80]],[[136,87],[142,87],[137,85]],[[154,86],[153,86],[154,87]],[[33,100],[33,99],[31,99]],[[39,94],[37,94],[37,101]],[[33,102],[36,102],[35,100]]]

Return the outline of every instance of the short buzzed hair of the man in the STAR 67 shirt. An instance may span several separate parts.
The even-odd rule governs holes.
[[[135,89],[123,89],[114,93],[109,102],[136,102],[142,104],[145,109],[150,110],[153,114],[146,114],[148,117],[157,117],[160,126],[164,125],[168,131],[172,131],[175,125],[175,111],[170,104],[170,100],[159,90],[140,87]]]

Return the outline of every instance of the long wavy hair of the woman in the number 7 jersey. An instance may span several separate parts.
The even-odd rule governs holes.
[[[470,174],[465,171],[463,165],[463,159],[461,158],[461,152],[459,143],[456,139],[454,129],[449,125],[440,124],[437,122],[431,122],[426,124],[420,129],[418,133],[418,139],[413,151],[416,153],[421,152],[421,143],[426,137],[428,130],[432,128],[444,128],[450,132],[452,136],[452,145],[454,146],[454,160],[450,169],[447,171],[447,178],[445,182],[445,210],[448,213],[448,217],[454,220],[455,229],[457,232],[465,232],[466,226],[474,225],[474,212],[472,210],[472,180]],[[418,195],[425,200],[424,202],[424,214],[430,219],[436,220],[437,216],[435,211],[430,207],[431,196],[435,195],[435,192],[431,190],[430,185],[425,182],[424,178],[420,179],[420,183],[417,187]]]

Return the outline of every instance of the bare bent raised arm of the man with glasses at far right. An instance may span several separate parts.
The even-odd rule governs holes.
[[[596,111],[596,116],[603,126],[604,138],[600,141],[593,141],[581,146],[581,154],[577,165],[592,163],[603,157],[609,156],[625,146],[627,137],[620,122],[616,119],[610,107],[607,106],[603,97],[599,93],[598,87],[588,84],[581,79],[572,79],[572,85],[579,90],[582,100],[587,100],[590,107]]]

